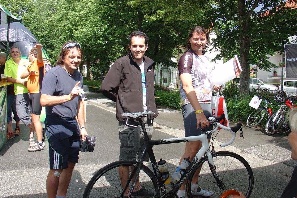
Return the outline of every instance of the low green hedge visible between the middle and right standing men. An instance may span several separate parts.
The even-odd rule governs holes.
[[[180,106],[180,95],[177,90],[155,90],[156,92],[156,105],[174,108],[177,110],[181,110]],[[157,98],[158,97],[158,98]]]

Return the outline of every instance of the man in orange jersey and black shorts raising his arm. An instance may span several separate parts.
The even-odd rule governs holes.
[[[41,105],[41,85],[43,76],[45,74],[44,63],[42,58],[41,47],[43,45],[36,44],[29,53],[29,61],[31,65],[28,66],[27,70],[21,75],[21,79],[28,77],[27,88],[30,93],[29,96],[29,107],[31,111],[32,123],[36,131],[37,143],[31,145],[28,151],[41,151],[44,148],[44,138],[42,138],[42,125],[40,122]],[[33,135],[33,134],[32,134]],[[30,136],[34,139],[34,136]]]

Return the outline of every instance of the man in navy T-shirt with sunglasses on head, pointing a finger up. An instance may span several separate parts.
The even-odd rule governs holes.
[[[80,138],[84,140],[88,135],[81,93],[83,77],[77,71],[82,57],[79,43],[66,42],[56,67],[46,72],[42,82],[40,102],[45,106],[45,129],[49,140],[48,198],[66,197],[73,168],[78,162]]]

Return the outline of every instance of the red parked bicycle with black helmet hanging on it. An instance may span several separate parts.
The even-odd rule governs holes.
[[[291,126],[286,114],[289,109],[293,109],[296,105],[293,104],[292,99],[285,92],[280,90],[274,97],[274,100],[283,104],[268,118],[265,124],[265,133],[269,136],[273,136],[276,133],[288,135],[291,133]]]

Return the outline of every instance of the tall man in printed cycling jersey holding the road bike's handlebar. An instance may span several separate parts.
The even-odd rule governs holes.
[[[205,47],[208,44],[209,32],[200,26],[191,29],[188,39],[187,48],[189,49],[179,59],[178,69],[180,78],[180,105],[183,112],[183,123],[185,127],[185,136],[201,135],[201,128],[206,131],[211,130],[207,118],[212,116],[210,101],[212,97],[212,88],[218,90],[220,86],[212,85],[212,67],[208,58],[205,56]],[[208,135],[208,142],[210,139]],[[202,144],[200,141],[186,142],[183,158],[193,157],[200,150]],[[209,197],[214,194],[198,186],[198,176],[200,169],[196,172],[196,178],[192,180],[192,195]],[[193,183],[195,182],[195,183]],[[185,183],[179,188],[177,195],[185,196]]]

